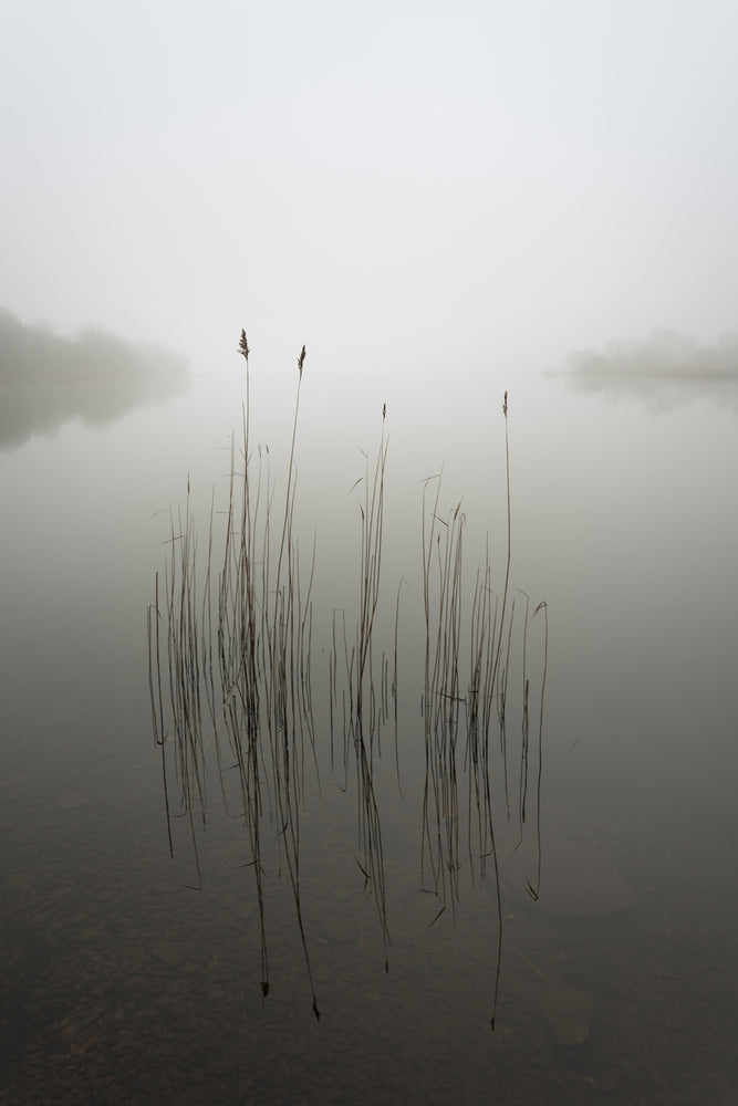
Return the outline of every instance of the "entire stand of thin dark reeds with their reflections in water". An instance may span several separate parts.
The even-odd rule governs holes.
[[[297,442],[300,395],[306,352],[298,357],[287,480],[281,503],[272,484],[270,453],[254,448],[251,429],[250,348],[241,331],[238,353],[245,362],[240,440],[231,437],[227,502],[216,511],[210,501],[204,576],[198,573],[197,526],[190,480],[184,512],[169,514],[164,587],[155,577],[148,608],[148,686],[154,739],[162,758],[163,789],[170,854],[173,818],[186,820],[196,886],[202,887],[198,839],[206,826],[210,750],[229,817],[246,831],[258,904],[260,987],[270,989],[267,855],[276,848],[287,872],[300,932],[312,1010],[320,1018],[313,983],[301,878],[301,810],[305,781],[312,773],[321,794],[320,749],[313,714],[313,586],[316,536],[310,563],[301,567],[295,533],[298,493]],[[440,511],[443,470],[423,482],[422,604],[425,657],[422,690],[425,782],[420,820],[420,883],[437,899],[432,925],[447,907],[454,916],[468,868],[471,883],[486,878],[491,862],[496,890],[496,962],[491,1024],[495,1026],[502,953],[502,907],[498,821],[516,826],[518,844],[534,805],[537,872],[529,894],[540,891],[540,811],[542,784],[543,695],[548,665],[548,608],[530,615],[526,593],[522,613],[511,599],[511,501],[508,397],[505,416],[507,559],[502,586],[493,586],[489,538],[485,557],[467,567],[467,518],[461,503]],[[385,477],[388,438],[386,406],[374,459],[365,456],[358,503],[356,620],[335,608],[328,645],[328,739],[330,771],[341,765],[343,790],[355,781],[356,864],[374,899],[388,971],[389,925],[375,758],[382,734],[394,723],[395,775],[402,794],[398,724],[399,582],[394,603],[394,641],[375,646],[382,599]],[[353,491],[354,489],[352,489]],[[222,525],[219,519],[222,518]],[[471,580],[472,587],[468,588]],[[543,678],[536,747],[534,804],[529,775],[530,677],[529,623],[544,612]],[[519,661],[518,634],[522,632]],[[391,668],[392,658],[392,668]],[[468,658],[468,667],[467,667]],[[512,680],[522,665],[521,681]],[[167,678],[168,677],[168,678]],[[512,680],[512,681],[511,681]],[[512,688],[520,688],[520,748],[517,776],[509,727]],[[493,740],[497,729],[497,740]],[[339,745],[337,742],[342,742]],[[339,761],[339,757],[341,760]],[[460,776],[466,774],[466,791]],[[179,810],[173,813],[174,787]],[[466,822],[466,831],[465,831]]]

